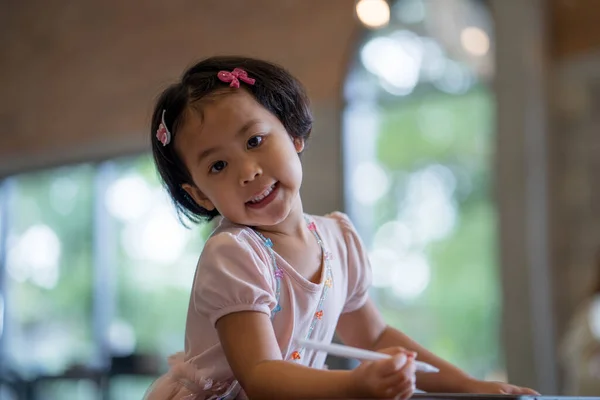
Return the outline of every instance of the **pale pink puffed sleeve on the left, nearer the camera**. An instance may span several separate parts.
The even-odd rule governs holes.
[[[206,242],[200,256],[192,300],[213,326],[240,311],[270,315],[277,305],[269,259],[248,235],[221,232]]]

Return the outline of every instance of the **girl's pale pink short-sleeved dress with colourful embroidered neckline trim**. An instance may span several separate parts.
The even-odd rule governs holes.
[[[244,399],[219,343],[216,321],[239,311],[271,316],[285,360],[323,368],[326,354],[300,349],[296,339],[330,343],[340,314],[367,300],[371,270],[345,214],[307,216],[324,252],[321,282],[298,274],[257,232],[222,220],[205,244],[192,286],[185,353],[146,394],[147,400]]]

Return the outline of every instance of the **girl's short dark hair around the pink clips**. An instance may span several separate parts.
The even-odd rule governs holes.
[[[193,184],[193,181],[175,151],[174,141],[190,107],[197,109],[200,100],[215,92],[228,92],[229,83],[219,80],[217,73],[233,71],[234,68],[242,68],[250,78],[256,79],[254,85],[240,81],[240,89],[236,90],[249,92],[281,121],[290,136],[306,141],[312,130],[313,118],[304,87],[284,68],[271,62],[237,56],[211,57],[190,67],[181,81],[169,86],[158,98],[152,114],[150,135],[152,155],[163,184],[179,216],[185,216],[194,223],[210,221],[219,212],[199,206],[182,188],[183,184]],[[167,146],[163,146],[156,138],[163,111],[166,128],[171,133],[171,143]]]

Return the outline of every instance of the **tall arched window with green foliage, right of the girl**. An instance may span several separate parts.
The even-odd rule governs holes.
[[[345,187],[388,323],[503,379],[491,42],[483,2],[395,2],[347,78]]]

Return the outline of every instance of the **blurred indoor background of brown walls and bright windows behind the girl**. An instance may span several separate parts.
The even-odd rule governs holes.
[[[559,348],[600,244],[596,0],[3,8],[0,399],[139,399],[183,348],[211,227],[177,220],[149,119],[231,53],[307,87],[305,209],[351,216],[388,323],[476,377],[575,394]]]

